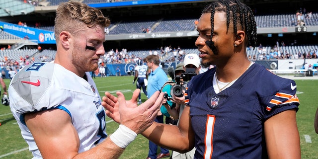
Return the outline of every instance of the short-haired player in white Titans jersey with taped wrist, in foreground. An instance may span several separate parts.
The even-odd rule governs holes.
[[[11,80],[10,108],[33,159],[119,158],[159,112],[163,93],[156,92],[138,107],[135,99],[134,107],[119,108],[122,123],[107,137],[107,111],[89,72],[98,68],[105,53],[104,27],[109,24],[100,10],[87,4],[61,3],[55,18],[55,61],[25,66]],[[139,93],[137,89],[133,96]],[[122,93],[117,95],[119,102],[125,100]]]

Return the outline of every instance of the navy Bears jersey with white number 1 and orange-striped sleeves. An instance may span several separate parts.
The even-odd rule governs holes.
[[[298,110],[296,83],[252,65],[216,94],[215,68],[194,76],[185,102],[195,132],[195,159],[266,159],[263,124],[285,110]]]

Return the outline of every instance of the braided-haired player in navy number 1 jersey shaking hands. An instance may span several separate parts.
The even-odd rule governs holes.
[[[195,45],[201,65],[215,68],[189,81],[177,126],[154,122],[142,135],[181,153],[195,147],[195,159],[301,159],[296,83],[248,60],[256,30],[252,10],[239,0],[208,4]],[[114,118],[112,106],[120,104],[106,103]]]

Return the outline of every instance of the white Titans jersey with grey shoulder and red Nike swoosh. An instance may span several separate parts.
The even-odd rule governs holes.
[[[11,112],[33,159],[42,157],[24,122],[24,114],[29,112],[47,109],[67,112],[79,134],[79,153],[107,137],[105,111],[99,93],[89,73],[86,77],[88,81],[61,65],[38,62],[25,66],[11,80],[8,88]]]

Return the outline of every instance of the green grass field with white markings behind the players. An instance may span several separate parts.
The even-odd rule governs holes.
[[[116,91],[122,91],[126,99],[130,99],[136,85],[132,84],[133,77],[107,77],[105,79],[96,78],[95,82],[101,96],[104,91],[113,94]],[[4,81],[9,83],[8,79]],[[297,123],[301,138],[302,159],[318,159],[318,134],[314,130],[314,117],[318,107],[317,89],[318,80],[295,80],[297,83],[298,97],[301,101],[300,109],[297,112]],[[1,91],[3,92],[3,90]],[[146,100],[142,93],[143,101]],[[110,118],[106,119],[107,134],[113,133],[118,124],[112,122]],[[0,159],[31,159],[32,155],[28,151],[28,146],[21,137],[20,129],[13,118],[10,108],[0,104]],[[311,140],[305,140],[305,136]],[[121,159],[146,159],[148,155],[148,140],[142,135],[132,142]]]

